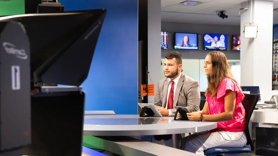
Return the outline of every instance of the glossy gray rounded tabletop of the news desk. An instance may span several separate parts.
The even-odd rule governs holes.
[[[141,136],[201,132],[215,129],[217,122],[181,121],[174,117],[139,117],[139,115],[86,115],[83,135]]]

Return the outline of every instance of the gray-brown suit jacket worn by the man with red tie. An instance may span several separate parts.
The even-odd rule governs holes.
[[[155,90],[154,104],[161,107],[166,107],[168,94],[168,78],[165,77],[158,81]],[[178,80],[177,88],[174,93],[172,115],[176,113],[177,109],[174,106],[187,107],[190,112],[199,110],[200,106],[200,89],[196,80],[182,73]]]

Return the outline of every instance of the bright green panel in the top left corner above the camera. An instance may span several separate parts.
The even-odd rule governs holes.
[[[25,0],[0,0],[0,16],[25,14]]]

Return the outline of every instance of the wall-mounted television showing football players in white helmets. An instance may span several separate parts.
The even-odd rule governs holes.
[[[227,35],[204,34],[204,50],[227,50]]]

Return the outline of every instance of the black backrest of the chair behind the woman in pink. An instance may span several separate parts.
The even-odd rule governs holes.
[[[257,102],[259,101],[259,94],[245,94],[245,98],[243,99],[243,101],[241,102],[244,109],[245,109],[245,135],[247,138],[247,145],[250,145],[251,147],[251,151],[254,151],[254,145],[252,143],[251,137],[250,137],[250,133],[249,133],[249,121],[250,118],[252,116],[253,110],[255,109],[255,106],[257,104]]]

